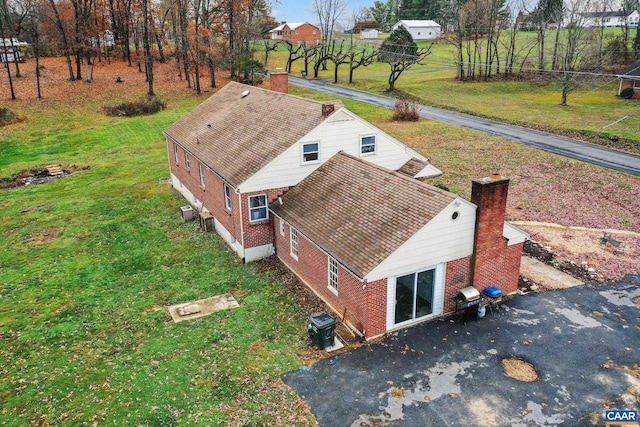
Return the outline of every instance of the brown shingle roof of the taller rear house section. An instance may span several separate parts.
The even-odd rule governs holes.
[[[322,123],[322,104],[231,82],[165,133],[237,187]]]

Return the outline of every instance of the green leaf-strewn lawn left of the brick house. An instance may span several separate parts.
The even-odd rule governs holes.
[[[183,92],[131,119],[11,104],[28,120],[0,128],[0,177],[88,169],[0,190],[0,425],[314,423],[279,380],[310,353],[296,290],[182,222],[164,181],[162,130],[203,99]],[[240,308],[171,320],[225,292]]]

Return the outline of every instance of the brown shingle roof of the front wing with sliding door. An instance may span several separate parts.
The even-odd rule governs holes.
[[[340,152],[271,209],[364,278],[456,197]]]

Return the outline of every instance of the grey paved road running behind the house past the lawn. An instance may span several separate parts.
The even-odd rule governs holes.
[[[395,104],[395,99],[392,98],[329,84],[322,80],[307,80],[290,76],[289,82],[296,86],[330,93],[379,107],[393,108]],[[583,162],[592,163],[630,175],[640,176],[640,156],[637,155],[438,108],[420,106],[418,111],[420,116],[425,119],[462,126],[561,156],[582,160]]]

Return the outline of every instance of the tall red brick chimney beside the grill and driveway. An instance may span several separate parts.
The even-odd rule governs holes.
[[[489,286],[497,286],[505,294],[517,290],[522,251],[520,255],[510,255],[507,239],[503,237],[508,192],[509,179],[497,173],[473,180],[472,183],[471,202],[478,209],[471,258],[471,283],[480,291]],[[514,267],[516,256],[517,267]],[[515,273],[512,271],[514,268]]]

